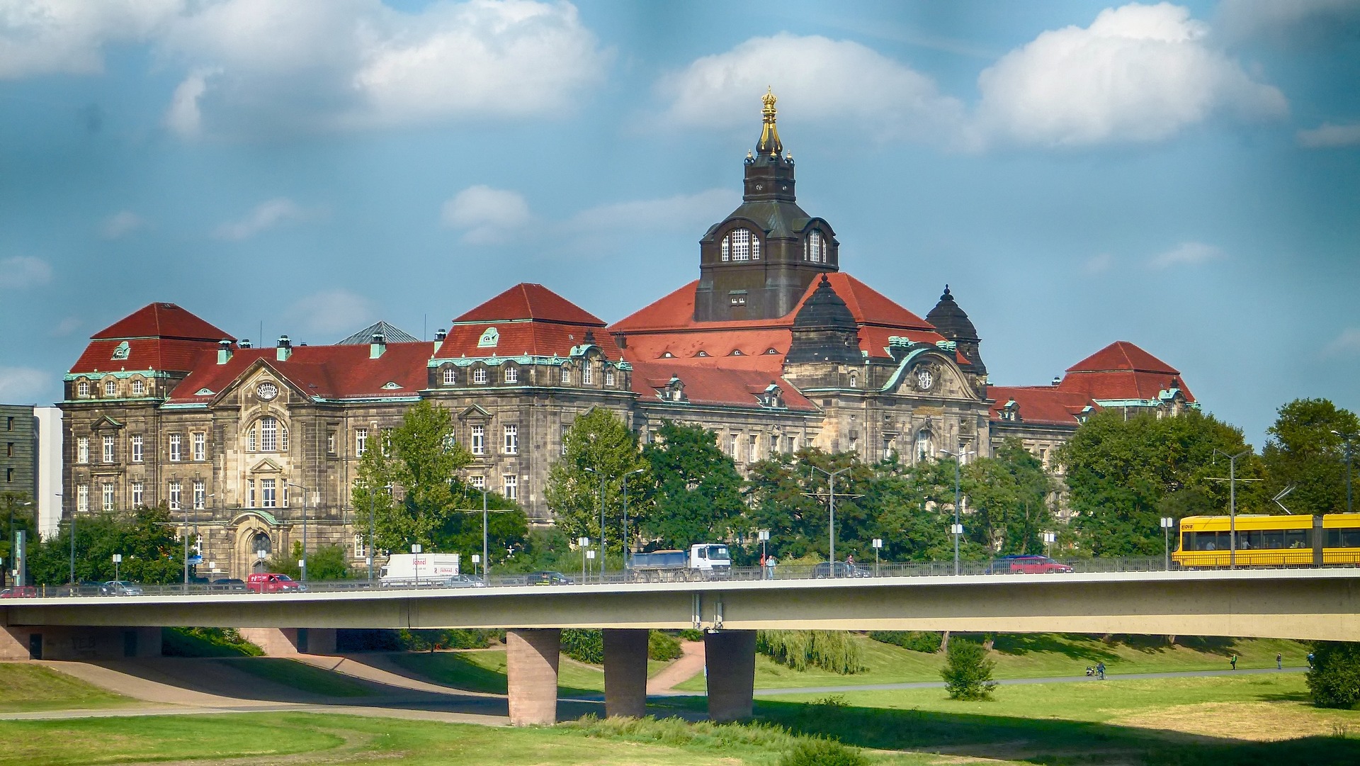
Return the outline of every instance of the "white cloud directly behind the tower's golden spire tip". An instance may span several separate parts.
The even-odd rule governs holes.
[[[930,78],[858,42],[777,34],[748,39],[666,75],[657,93],[664,122],[728,128],[758,124],[767,86],[781,117],[800,124],[860,125],[870,136],[948,139],[963,105]]]

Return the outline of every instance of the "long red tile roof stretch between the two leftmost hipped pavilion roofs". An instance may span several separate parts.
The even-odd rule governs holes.
[[[434,343],[389,343],[382,356],[369,358],[369,346],[296,346],[286,362],[276,361],[275,348],[238,348],[226,365],[204,356],[199,366],[175,386],[170,403],[208,403],[239,378],[256,362],[272,369],[306,396],[321,399],[366,399],[413,396],[427,386],[427,361]],[[394,382],[400,388],[386,389]],[[208,389],[212,393],[197,393]]]

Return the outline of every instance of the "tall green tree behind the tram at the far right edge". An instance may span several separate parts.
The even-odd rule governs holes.
[[[1284,503],[1293,513],[1345,510],[1345,441],[1360,439],[1360,419],[1355,412],[1326,399],[1296,399],[1280,408],[1268,433],[1270,438],[1261,450],[1266,491],[1274,495],[1292,484],[1295,488]]]

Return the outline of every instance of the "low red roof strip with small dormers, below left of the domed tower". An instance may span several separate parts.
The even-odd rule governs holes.
[[[656,401],[658,389],[665,389],[672,376],[684,384],[684,395],[690,404],[759,408],[759,395],[774,384],[779,386],[787,410],[816,411],[816,405],[808,397],[779,376],[760,370],[715,367],[695,363],[694,359],[634,362],[632,390],[642,401]]]

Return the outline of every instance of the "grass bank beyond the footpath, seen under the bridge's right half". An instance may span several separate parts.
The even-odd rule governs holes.
[[[1187,645],[1167,646],[1161,637],[1121,637],[1106,644],[1084,634],[1009,634],[996,638],[991,659],[997,678],[1078,676],[1087,665],[1104,661],[1107,673],[1155,673],[1167,671],[1225,671],[1228,657],[1239,656],[1239,668],[1273,668],[1276,652],[1285,667],[1302,667],[1308,649],[1297,641],[1259,638],[1185,638]],[[928,654],[873,641],[853,638],[862,649],[865,671],[839,675],[820,668],[804,672],[756,656],[756,688],[800,686],[853,686],[940,680],[941,654]],[[703,673],[676,686],[681,691],[703,691]]]

